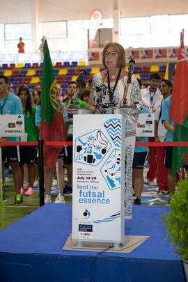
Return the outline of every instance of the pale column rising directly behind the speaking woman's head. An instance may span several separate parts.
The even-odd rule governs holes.
[[[119,42],[119,36],[120,36],[120,0],[113,0],[112,41]]]

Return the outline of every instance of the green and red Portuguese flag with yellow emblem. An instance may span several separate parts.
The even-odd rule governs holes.
[[[43,50],[40,139],[45,141],[66,141],[67,134],[61,102],[46,40]],[[55,168],[62,147],[44,146],[44,164],[49,169]]]

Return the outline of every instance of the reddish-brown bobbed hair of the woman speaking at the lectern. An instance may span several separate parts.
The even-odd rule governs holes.
[[[118,52],[118,61],[117,61],[117,67],[118,68],[125,68],[125,50],[123,49],[123,47],[116,42],[109,42],[107,45],[104,46],[103,52],[102,52],[102,63],[104,65],[105,68],[107,68],[107,65],[105,64],[105,57],[104,57],[104,53],[107,52],[107,49],[109,47],[112,47],[114,51]]]

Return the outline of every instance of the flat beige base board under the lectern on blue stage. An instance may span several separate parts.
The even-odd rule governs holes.
[[[72,240],[72,234],[68,237],[67,242],[63,246],[63,250],[71,251],[103,251],[111,246],[107,252],[131,253],[140,244],[146,241],[150,236],[133,236],[125,235],[125,244],[121,245],[114,242],[88,242]]]

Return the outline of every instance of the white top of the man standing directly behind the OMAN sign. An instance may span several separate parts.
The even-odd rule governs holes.
[[[150,94],[153,96],[152,100],[150,99]],[[141,89],[141,97],[143,103],[150,109],[150,112],[153,113],[155,104],[163,99],[161,91],[157,88],[155,93],[150,93],[150,86],[148,88]]]

